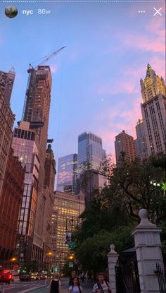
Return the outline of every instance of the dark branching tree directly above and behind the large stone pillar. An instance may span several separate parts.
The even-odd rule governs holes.
[[[153,165],[153,157],[141,163],[122,162],[113,169],[110,186],[113,193],[121,196],[127,207],[127,213],[133,220],[139,220],[138,210],[146,208],[153,222],[162,220],[163,210],[160,208],[163,191],[160,184],[165,180],[165,171]]]

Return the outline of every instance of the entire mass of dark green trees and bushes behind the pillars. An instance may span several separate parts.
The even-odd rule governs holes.
[[[163,160],[162,160],[163,157]],[[165,156],[150,157],[141,163],[125,161],[120,167],[111,165],[109,184],[102,191],[94,190],[75,233],[75,250],[84,270],[99,272],[107,268],[110,244],[118,253],[134,246],[132,229],[139,223],[138,212],[146,208],[150,220],[162,226],[162,248],[166,255]]]

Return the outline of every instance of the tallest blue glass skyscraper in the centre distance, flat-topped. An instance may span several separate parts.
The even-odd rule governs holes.
[[[87,131],[79,135],[77,193],[84,193],[86,205],[92,199],[92,191],[102,189],[106,183],[106,177],[99,171],[103,157],[106,157],[106,151],[100,137]]]

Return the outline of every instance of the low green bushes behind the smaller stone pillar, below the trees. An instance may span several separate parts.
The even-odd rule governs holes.
[[[112,233],[101,230],[94,237],[87,238],[76,250],[83,268],[88,271],[93,270],[94,272],[106,270],[110,244],[115,244],[116,250],[120,253],[134,246],[131,229],[131,226],[121,226]]]

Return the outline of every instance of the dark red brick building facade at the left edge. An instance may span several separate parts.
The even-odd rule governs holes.
[[[0,195],[0,265],[8,268],[15,256],[20,205],[23,199],[25,170],[10,148]]]

